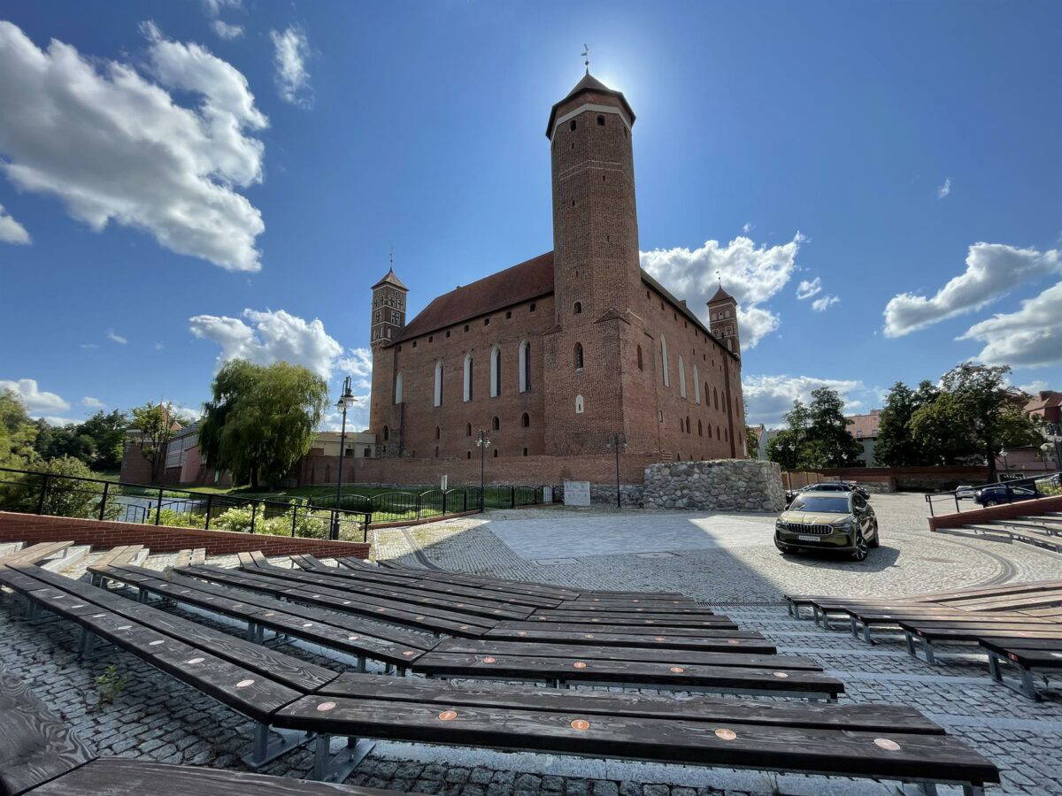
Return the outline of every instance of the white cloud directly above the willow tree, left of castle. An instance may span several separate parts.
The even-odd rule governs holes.
[[[284,310],[244,310],[240,318],[225,315],[195,315],[188,319],[191,333],[212,340],[221,346],[218,363],[245,359],[260,365],[285,361],[305,365],[313,373],[329,378],[343,346],[328,336],[324,324],[314,318],[306,322]]]

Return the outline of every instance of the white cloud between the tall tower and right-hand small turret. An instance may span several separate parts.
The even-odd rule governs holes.
[[[766,334],[778,328],[781,318],[759,307],[781,291],[795,270],[796,253],[804,236],[796,232],[789,243],[759,246],[739,236],[723,246],[705,241],[697,249],[669,248],[641,252],[641,267],[678,296],[707,324],[707,300],[719,282],[738,302],[738,332],[741,348],[753,348]]]

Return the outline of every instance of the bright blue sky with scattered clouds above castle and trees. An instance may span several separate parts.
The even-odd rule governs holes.
[[[0,384],[34,415],[198,408],[234,356],[367,392],[392,246],[414,312],[551,247],[545,123],[584,42],[638,116],[644,266],[702,314],[717,269],[741,300],[751,420],[822,383],[866,411],[971,358],[1062,388],[1058,3],[0,20]]]

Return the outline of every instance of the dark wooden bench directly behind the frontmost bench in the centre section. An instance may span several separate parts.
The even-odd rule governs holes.
[[[476,655],[430,652],[411,669],[427,677],[544,680],[550,686],[594,683],[624,688],[666,688],[714,693],[802,696],[834,702],[844,683],[805,669],[786,669],[776,658],[772,668],[741,665],[676,665],[670,662],[556,658],[546,655]]]

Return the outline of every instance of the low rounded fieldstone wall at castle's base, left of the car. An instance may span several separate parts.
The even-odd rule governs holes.
[[[782,468],[774,462],[742,458],[650,465],[643,503],[646,508],[781,512]]]

